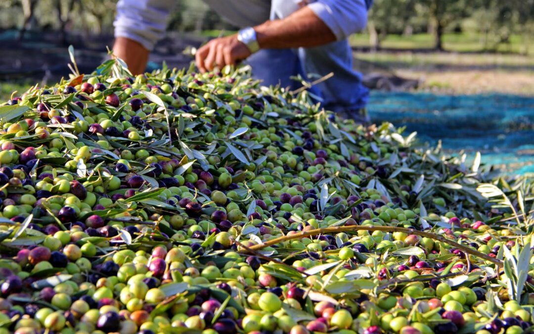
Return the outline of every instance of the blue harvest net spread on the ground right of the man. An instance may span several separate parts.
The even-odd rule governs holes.
[[[422,142],[442,139],[451,153],[480,151],[507,173],[534,173],[534,97],[373,91],[368,111],[373,122],[406,126]]]

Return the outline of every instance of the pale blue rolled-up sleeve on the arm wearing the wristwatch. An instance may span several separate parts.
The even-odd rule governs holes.
[[[332,30],[338,41],[367,25],[365,0],[319,0],[308,6]]]

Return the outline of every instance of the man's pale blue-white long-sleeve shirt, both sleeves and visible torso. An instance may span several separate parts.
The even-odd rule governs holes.
[[[283,18],[299,0],[203,0],[218,14],[239,27],[256,26],[270,18]],[[372,0],[311,0],[310,9],[332,30],[337,40],[362,30]],[[119,0],[115,37],[127,37],[152,50],[167,26],[175,0]]]

